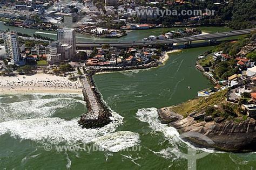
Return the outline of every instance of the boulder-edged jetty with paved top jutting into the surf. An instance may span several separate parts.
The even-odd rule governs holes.
[[[86,102],[87,113],[82,115],[78,121],[82,128],[102,128],[103,126],[112,122],[110,119],[111,110],[107,107],[102,99],[102,95],[99,93],[97,88],[95,88],[95,83],[92,79],[94,72],[88,72],[86,75],[87,83],[91,87],[92,94],[88,94],[86,89],[83,89],[84,100]],[[86,79],[85,78],[85,79]],[[92,95],[94,100],[92,101]]]

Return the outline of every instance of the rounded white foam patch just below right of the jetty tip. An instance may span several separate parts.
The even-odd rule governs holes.
[[[139,134],[130,131],[119,131],[92,140],[104,151],[119,152],[125,148],[138,145]]]

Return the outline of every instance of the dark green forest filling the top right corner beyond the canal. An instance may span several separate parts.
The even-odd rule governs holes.
[[[227,25],[232,29],[247,29],[253,27],[251,23],[256,19],[256,1],[254,0],[242,0],[242,1],[230,1],[230,3],[214,4],[213,1],[206,0],[205,2],[190,1],[191,3],[180,4],[157,4],[159,9],[169,9],[171,11],[177,10],[180,13],[182,10],[202,10],[205,9],[214,10],[214,16],[204,16],[200,21],[188,20],[189,15],[180,16],[164,16],[153,19],[152,23],[163,24],[171,27],[175,22],[187,22],[187,24],[201,24],[205,26],[215,25]],[[140,5],[146,5],[145,1],[138,1]],[[152,7],[154,5],[151,5]],[[196,16],[196,15],[195,15]],[[136,18],[138,22],[143,22]]]

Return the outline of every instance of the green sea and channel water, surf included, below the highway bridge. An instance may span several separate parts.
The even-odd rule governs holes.
[[[160,124],[156,109],[185,102],[212,86],[194,68],[198,55],[209,48],[172,53],[158,68],[95,75],[116,119],[98,130],[78,127],[86,111],[80,94],[0,95],[0,169],[188,169],[184,153],[194,147],[174,128]],[[55,147],[74,145],[100,150]],[[197,160],[197,169],[256,167],[256,153],[196,150],[207,152]]]

